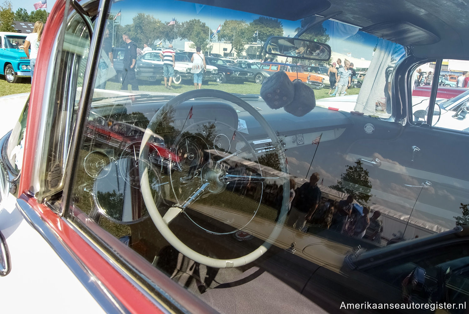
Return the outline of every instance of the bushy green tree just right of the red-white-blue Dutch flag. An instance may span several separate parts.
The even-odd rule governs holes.
[[[245,21],[240,20],[225,20],[223,23],[219,38],[221,40],[229,41],[231,43],[231,51],[236,51],[239,57],[245,50],[244,45],[252,42],[252,27]]]

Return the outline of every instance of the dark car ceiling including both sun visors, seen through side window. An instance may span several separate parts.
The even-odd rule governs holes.
[[[214,5],[270,16],[272,18],[296,21],[311,15],[333,16],[335,20],[364,28],[376,35],[403,46],[414,46],[413,54],[417,57],[462,59],[466,60],[469,51],[469,33],[467,23],[466,0],[433,1],[433,0],[396,0],[370,5],[369,0],[358,0],[347,3],[343,8],[342,0],[293,0],[287,10],[282,0],[189,0],[200,4]],[[386,12],[384,17],[379,12]],[[398,21],[398,22],[395,22]],[[405,21],[405,22],[401,22]],[[451,47],[451,49],[447,49]]]

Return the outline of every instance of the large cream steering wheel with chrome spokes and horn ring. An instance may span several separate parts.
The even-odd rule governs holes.
[[[160,214],[157,205],[151,198],[148,175],[141,173],[141,191],[151,220],[161,235],[179,252],[188,258],[214,268],[231,268],[248,264],[272,245],[279,236],[285,221],[289,185],[287,165],[282,149],[269,152],[275,168],[261,166],[253,145],[242,132],[238,132],[238,120],[233,110],[234,119],[209,119],[197,115],[197,118],[186,118],[180,124],[173,123],[175,117],[186,116],[192,112],[192,105],[182,105],[185,101],[197,98],[216,98],[227,100],[244,112],[249,113],[263,129],[263,134],[272,139],[272,146],[281,147],[276,132],[265,121],[264,117],[246,101],[222,91],[203,89],[182,93],[163,105],[148,123],[142,140],[140,155],[145,158],[148,153],[146,142],[152,134],[166,137],[174,155],[171,163],[177,164],[168,171],[169,185],[173,194],[167,199],[175,199],[164,215]],[[182,105],[180,108],[178,106]],[[195,107],[196,105],[194,105]],[[186,108],[187,107],[187,108]],[[232,108],[230,108],[232,109]],[[181,110],[178,112],[178,110]],[[182,112],[183,111],[183,112]],[[196,114],[194,114],[196,116]],[[165,138],[166,139],[166,138]],[[142,167],[141,167],[142,168]],[[264,169],[272,175],[264,175]],[[148,167],[141,171],[148,171]],[[146,181],[146,182],[145,182]],[[180,214],[185,214],[195,226],[211,233],[213,236],[227,235],[247,226],[258,213],[262,203],[264,181],[283,185],[283,200],[280,219],[274,223],[270,234],[266,234],[264,243],[252,252],[229,260],[214,258],[198,253],[178,238],[169,224]],[[230,183],[228,185],[228,183]],[[254,183],[254,184],[252,184]],[[248,196],[248,185],[259,189],[258,197]],[[166,193],[170,192],[166,190]],[[252,193],[251,193],[252,194]],[[189,210],[190,208],[190,210]],[[273,219],[272,219],[273,221]],[[177,225],[173,223],[173,228]]]

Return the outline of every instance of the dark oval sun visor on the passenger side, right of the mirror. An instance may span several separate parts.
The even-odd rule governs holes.
[[[408,22],[378,23],[363,27],[360,31],[387,39],[402,46],[431,45],[440,40],[432,32]]]

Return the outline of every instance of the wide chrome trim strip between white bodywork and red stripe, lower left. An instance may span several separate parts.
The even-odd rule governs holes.
[[[47,241],[54,252],[59,255],[64,264],[67,265],[106,313],[130,313],[25,200],[17,199],[16,208],[21,212],[24,219]]]

